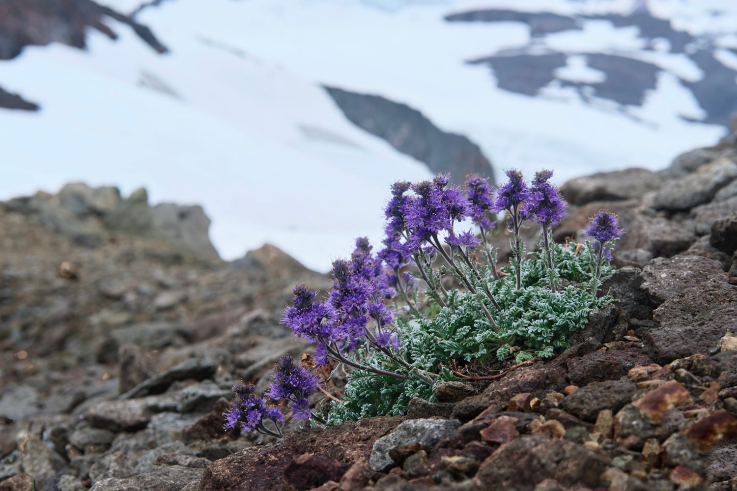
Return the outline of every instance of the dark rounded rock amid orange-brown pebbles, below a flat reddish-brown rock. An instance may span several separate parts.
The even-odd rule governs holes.
[[[562,405],[570,414],[593,422],[603,409],[619,411],[632,400],[635,391],[637,386],[624,380],[593,382],[565,397]]]

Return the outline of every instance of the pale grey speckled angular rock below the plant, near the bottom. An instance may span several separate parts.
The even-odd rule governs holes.
[[[460,425],[458,419],[409,419],[402,422],[397,429],[374,442],[368,467],[385,472],[394,465],[394,460],[389,456],[392,448],[414,443],[432,447],[441,439],[453,436]]]

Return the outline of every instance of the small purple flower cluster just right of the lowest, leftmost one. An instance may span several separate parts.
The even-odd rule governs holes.
[[[308,398],[320,387],[317,375],[311,369],[295,365],[290,355],[282,355],[271,377],[273,382],[269,384],[268,396],[273,400],[289,401],[294,419],[311,419]]]

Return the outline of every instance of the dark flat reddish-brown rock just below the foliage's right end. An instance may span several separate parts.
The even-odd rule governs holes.
[[[567,362],[568,380],[576,386],[615,380],[627,375],[634,366],[650,363],[652,360],[647,355],[634,350],[609,349],[604,352],[593,352]]]

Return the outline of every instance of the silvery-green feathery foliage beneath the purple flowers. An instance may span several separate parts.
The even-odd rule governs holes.
[[[548,267],[542,254],[532,253],[523,260],[523,288],[515,288],[511,268],[507,276],[495,280],[489,268],[482,268],[482,282],[476,289],[489,288],[501,310],[496,310],[483,293],[450,290],[447,307],[431,307],[424,312],[397,319],[402,345],[399,354],[407,366],[369,349],[357,356],[367,366],[382,366],[409,375],[408,380],[383,377],[363,370],[349,372],[349,383],[340,403],[332,403],[328,422],[405,414],[413,397],[433,400],[432,387],[419,374],[434,374],[434,381],[453,380],[453,373],[441,365],[453,359],[481,363],[489,357],[513,357],[520,363],[536,356],[551,358],[569,346],[570,335],[584,328],[591,310],[612,302],[611,297],[595,298],[587,288],[592,278],[592,262],[597,260],[589,243],[555,245],[553,257],[564,280],[555,293],[548,285]],[[608,262],[603,274],[611,274]],[[560,283],[560,281],[558,281]],[[485,284],[485,285],[484,285]],[[567,285],[567,286],[566,286]],[[498,330],[492,327],[482,309],[492,313]],[[372,354],[373,353],[373,354]],[[363,357],[363,358],[361,358]]]

